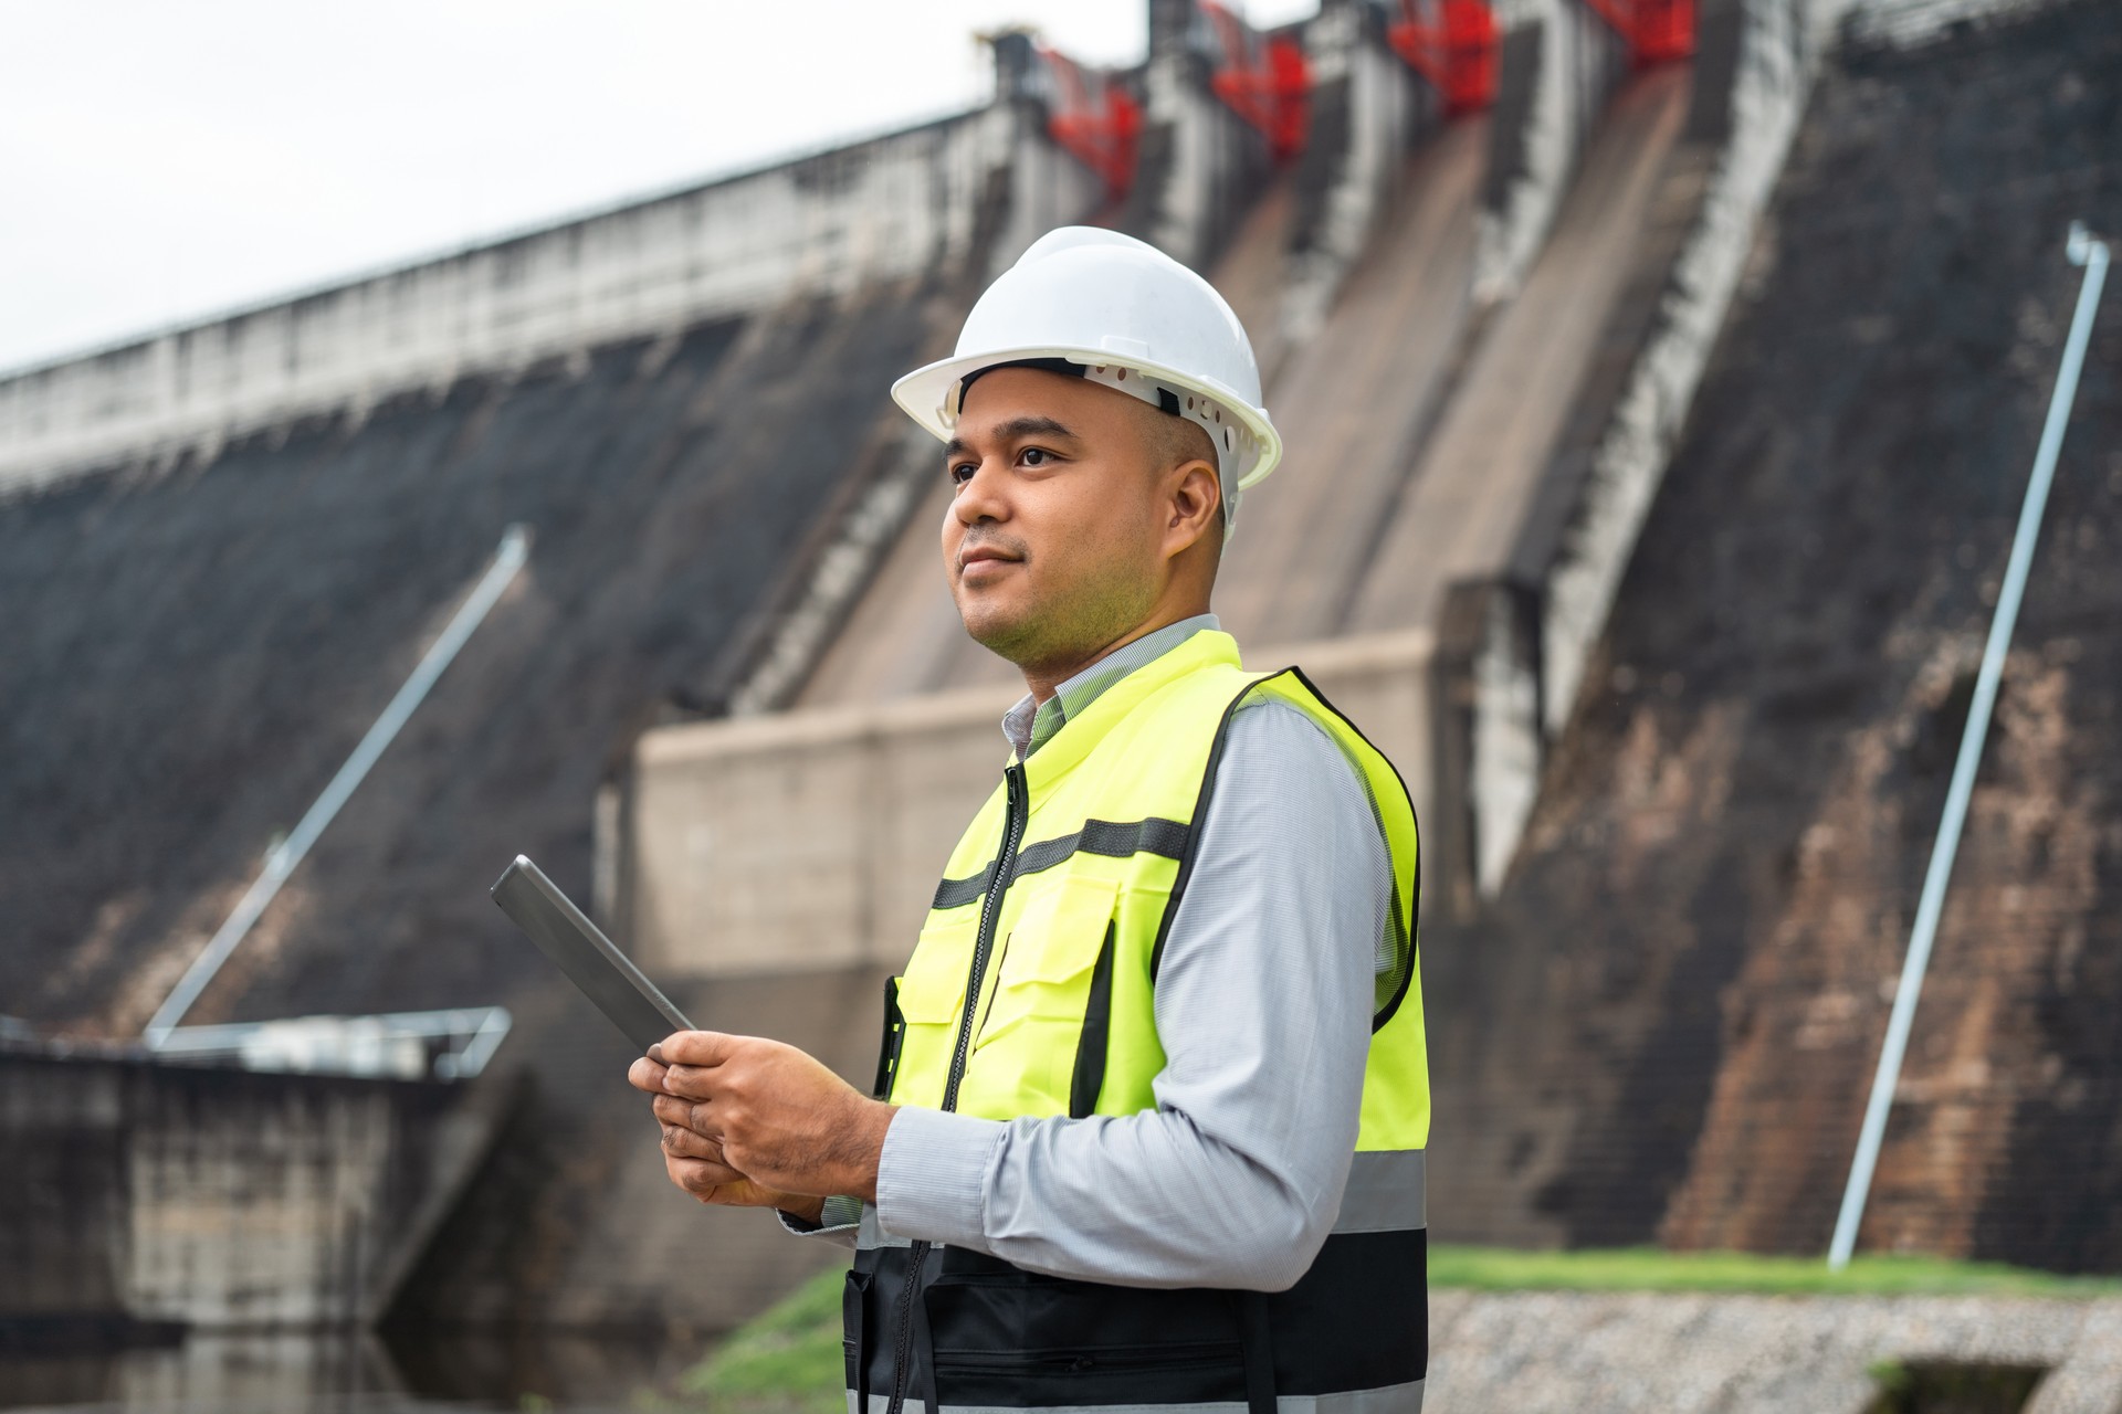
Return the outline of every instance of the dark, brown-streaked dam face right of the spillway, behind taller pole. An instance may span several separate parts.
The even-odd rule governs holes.
[[[1829,61],[1502,901],[1426,939],[1445,1238],[1821,1251],[2080,271],[2122,13]],[[2122,1268],[2122,316],[1865,1227]],[[1513,1018],[1496,1026],[1494,1018]]]

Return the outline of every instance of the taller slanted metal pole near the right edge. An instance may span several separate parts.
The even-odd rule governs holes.
[[[1997,706],[1997,681],[2003,676],[2003,657],[2012,647],[2012,628],[2018,623],[2018,602],[2027,591],[2033,545],[2041,534],[2041,511],[2048,509],[2048,485],[2056,475],[2056,454],[2063,452],[2063,428],[2069,424],[2071,403],[2077,399],[2077,373],[2086,365],[2086,343],[2092,339],[2092,314],[2101,303],[2101,286],[2107,282],[2107,246],[2092,240],[2084,223],[2071,223],[2065,250],[2071,265],[2086,267],[2086,280],[2077,288],[2077,314],[2071,316],[2071,335],[2063,343],[2063,367],[2056,373],[2056,390],[2048,399],[2048,422],[2041,426],[2041,445],[2033,454],[2033,477],[2027,481],[2027,500],[2018,511],[2018,534],[2012,536],[2012,560],[2005,564],[2003,591],[1997,596],[1997,617],[1990,619],[1988,644],[1982,649],[1982,672],[1976,676],[1976,695],[1967,704],[1967,729],[1961,733],[1961,755],[1952,763],[1946,814],[1937,825],[1931,867],[1923,876],[1916,926],[1908,937],[1901,986],[1893,994],[1893,1015],[1886,1020],[1886,1045],[1880,1047],[1878,1073],[1872,1077],[1872,1100],[1863,1111],[1863,1132],[1857,1136],[1850,1181],[1842,1189],[1836,1240],[1827,1249],[1827,1268],[1831,1272],[1848,1266],[1850,1253],[1857,1249],[1857,1227],[1863,1223],[1863,1206],[1872,1196],[1872,1170],[1878,1166],[1878,1145],[1886,1134],[1886,1111],[1893,1109],[1893,1092],[1901,1083],[1908,1030],[1916,1020],[1916,996],[1923,992],[1923,973],[1931,965],[1931,943],[1937,939],[1937,914],[1944,909],[1946,884],[1952,880],[1952,859],[1961,848],[1961,827],[1967,823],[1967,797],[1976,789],[1976,767],[1982,763],[1982,742],[1988,736],[1990,708]]]

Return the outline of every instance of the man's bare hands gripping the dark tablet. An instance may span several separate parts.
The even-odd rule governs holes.
[[[893,1107],[792,1045],[681,1030],[649,1047],[626,1079],[656,1096],[664,1168],[700,1202],[817,1221],[832,1194],[876,1200]]]

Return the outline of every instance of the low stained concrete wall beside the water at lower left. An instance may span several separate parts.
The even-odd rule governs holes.
[[[0,1329],[373,1323],[509,1096],[0,1045]]]

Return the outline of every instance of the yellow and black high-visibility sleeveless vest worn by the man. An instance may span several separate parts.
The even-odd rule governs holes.
[[[879,1094],[989,1119],[1154,1109],[1154,986],[1231,714],[1294,706],[1362,772],[1392,856],[1356,1160],[1311,1272],[1275,1295],[1067,1283],[874,1223],[849,1276],[849,1389],[929,1410],[1216,1403],[1371,1391],[1420,1408],[1430,1096],[1407,786],[1311,683],[1199,632],[1133,670],[1004,782],[959,839],[887,996]],[[1347,939],[1375,948],[1377,939]],[[966,1291],[978,1300],[968,1306]],[[1082,1300],[1076,1295],[1082,1293]],[[1125,1353],[1125,1355],[1123,1355]],[[1127,1369],[1125,1378],[1116,1369]],[[1099,1372],[1099,1374],[1093,1374]],[[1233,1393],[1235,1391],[1235,1393]]]

